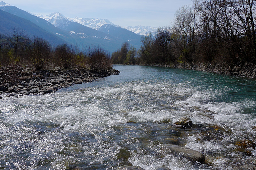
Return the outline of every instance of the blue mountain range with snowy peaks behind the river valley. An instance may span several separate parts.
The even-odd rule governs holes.
[[[79,46],[99,44],[110,52],[120,48],[125,41],[140,48],[140,38],[143,36],[140,34],[154,30],[154,27],[121,27],[107,19],[66,18],[59,12],[47,16],[32,15],[3,1],[0,2],[0,13],[1,34],[11,34],[15,27],[29,36],[42,37],[55,45],[63,42]]]

